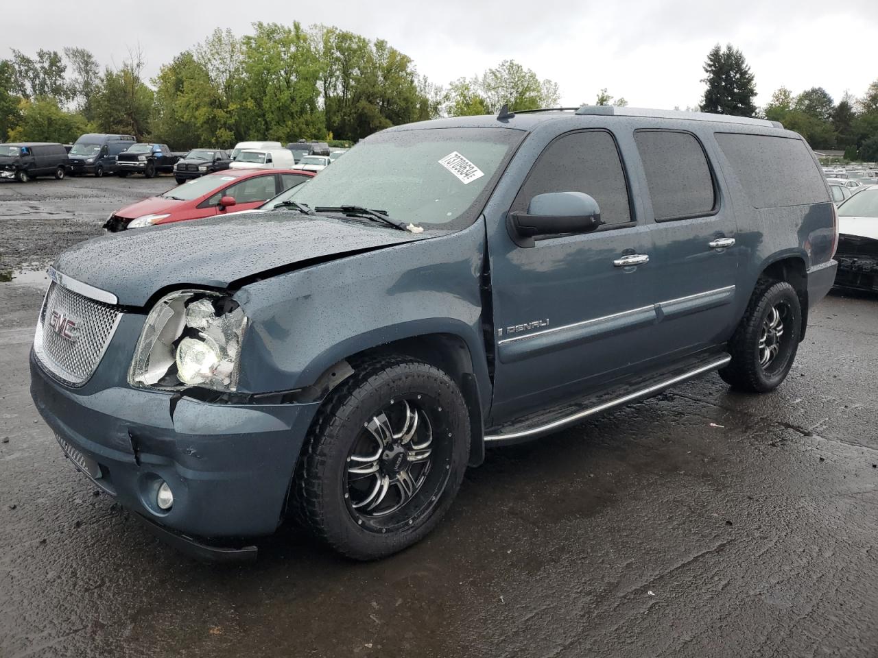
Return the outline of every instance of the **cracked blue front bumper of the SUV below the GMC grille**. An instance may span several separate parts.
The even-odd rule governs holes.
[[[37,410],[97,462],[94,482],[120,504],[176,543],[201,547],[277,529],[318,403],[207,404],[163,391],[94,388],[57,383],[31,353]],[[158,478],[174,493],[169,511],[155,504]]]

